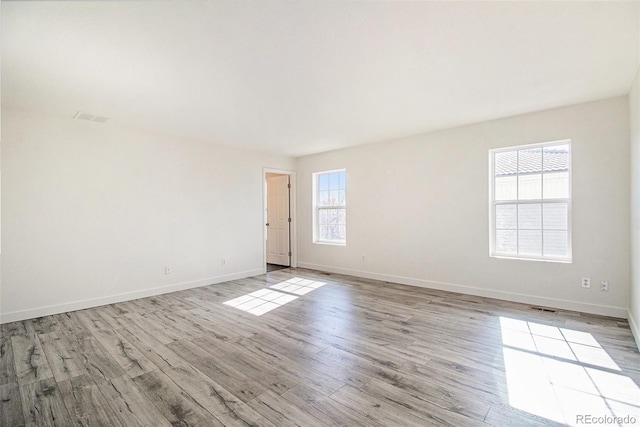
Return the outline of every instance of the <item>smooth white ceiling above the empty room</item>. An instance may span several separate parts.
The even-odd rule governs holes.
[[[3,107],[300,156],[629,92],[639,2],[2,2]]]

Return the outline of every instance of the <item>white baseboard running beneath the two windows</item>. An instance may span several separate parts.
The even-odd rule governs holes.
[[[577,301],[568,301],[555,298],[540,297],[535,295],[519,294],[515,292],[498,291],[494,289],[476,288],[473,286],[457,285],[452,283],[431,282],[412,277],[393,276],[389,274],[371,273],[368,271],[351,270],[347,268],[332,267],[327,265],[298,262],[298,267],[311,270],[326,271],[329,273],[346,274],[350,276],[363,277],[365,279],[382,280],[386,282],[400,283],[403,285],[420,286],[429,289],[457,292],[461,294],[476,295],[487,298],[495,298],[506,301],[519,302],[524,304],[540,305],[544,307],[558,308],[562,310],[579,311],[583,313],[599,314],[602,316],[612,316],[627,318],[628,311],[622,307],[611,307],[607,305],[588,304]]]

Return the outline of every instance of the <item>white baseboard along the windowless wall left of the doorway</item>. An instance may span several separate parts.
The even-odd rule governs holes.
[[[73,301],[64,304],[49,305],[46,307],[38,307],[29,310],[14,311],[10,313],[0,314],[0,324],[16,322],[26,319],[34,319],[36,317],[49,316],[52,314],[66,313],[68,311],[84,310],[86,308],[98,307],[101,305],[114,304],[117,302],[131,301],[138,298],[152,297],[155,295],[166,294],[169,292],[182,291],[185,289],[198,288],[200,286],[213,285],[216,283],[228,282],[229,280],[244,279],[245,277],[258,276],[264,274],[263,269],[242,271],[240,273],[229,274],[226,276],[211,277],[208,279],[194,280],[191,282],[176,283],[173,285],[160,286],[158,288],[143,289],[134,292],[125,292],[116,295],[109,295],[99,298],[86,299],[81,301]]]

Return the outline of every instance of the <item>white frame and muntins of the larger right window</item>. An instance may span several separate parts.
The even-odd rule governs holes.
[[[496,201],[494,199],[494,190],[495,190],[495,155],[497,153],[509,152],[509,151],[518,151],[524,149],[535,149],[535,148],[545,148],[552,147],[554,145],[568,145],[569,146],[569,197],[568,198],[557,198],[557,199],[545,199],[544,198],[544,186],[542,188],[542,198],[534,199],[534,200],[500,200]],[[544,151],[543,151],[544,152]],[[549,261],[549,262],[558,262],[558,263],[571,263],[573,260],[572,257],[572,214],[571,214],[571,201],[572,197],[572,175],[573,175],[573,165],[571,161],[571,140],[558,140],[558,141],[550,141],[543,142],[538,144],[527,144],[527,145],[518,145],[514,147],[505,147],[498,148],[494,150],[489,150],[489,256],[492,258],[504,258],[504,259],[518,259],[518,260],[529,260],[529,261]],[[547,172],[549,173],[549,172]],[[541,175],[544,175],[544,169],[540,172]],[[516,173],[516,176],[520,174]],[[544,182],[544,177],[542,178]],[[505,204],[505,205],[524,205],[524,204],[553,204],[553,203],[563,203],[567,205],[567,256],[566,257],[557,257],[550,255],[514,255],[514,254],[502,254],[496,251],[496,219],[495,219],[495,210],[496,205]],[[517,229],[516,229],[517,230]],[[544,228],[542,229],[544,231]],[[543,233],[544,239],[544,233]],[[544,245],[544,241],[543,241]],[[544,246],[543,246],[544,247]]]

